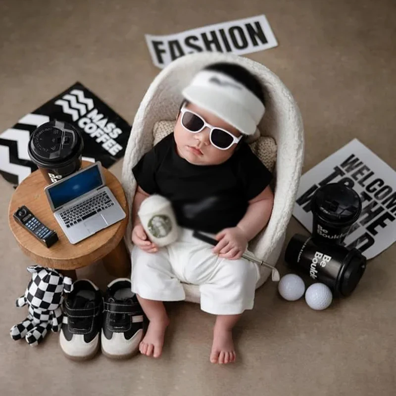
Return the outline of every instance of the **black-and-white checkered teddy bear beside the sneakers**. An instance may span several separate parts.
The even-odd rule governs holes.
[[[73,281],[50,268],[32,265],[27,268],[32,279],[25,294],[16,300],[16,306],[29,305],[27,318],[10,330],[13,340],[26,339],[31,346],[38,345],[46,336],[48,329],[53,332],[62,326],[63,292],[70,293]]]

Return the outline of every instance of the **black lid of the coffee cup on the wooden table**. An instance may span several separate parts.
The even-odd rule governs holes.
[[[82,150],[80,131],[63,121],[49,121],[40,125],[32,134],[28,146],[29,155],[38,165],[65,161]]]

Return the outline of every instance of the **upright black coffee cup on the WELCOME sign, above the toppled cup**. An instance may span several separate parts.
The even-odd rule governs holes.
[[[358,194],[341,183],[318,188],[311,202],[312,237],[321,243],[341,244],[362,210]]]

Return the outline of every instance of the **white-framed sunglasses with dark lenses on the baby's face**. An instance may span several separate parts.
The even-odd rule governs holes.
[[[182,126],[187,129],[187,131],[198,133],[205,128],[209,128],[210,143],[219,150],[228,150],[233,144],[238,143],[242,139],[242,135],[237,138],[225,129],[208,124],[199,114],[189,110],[185,106],[181,108],[180,112],[182,114]]]

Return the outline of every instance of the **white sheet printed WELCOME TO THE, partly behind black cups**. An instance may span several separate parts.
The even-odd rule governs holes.
[[[302,175],[293,215],[312,232],[310,202],[327,183],[341,182],[362,200],[362,212],[344,245],[372,258],[396,241],[396,172],[357,139]]]

